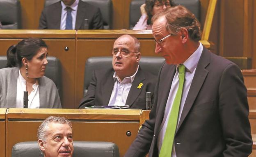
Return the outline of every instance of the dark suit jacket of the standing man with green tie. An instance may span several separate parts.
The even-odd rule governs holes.
[[[155,102],[125,157],[158,157],[158,134],[176,65],[164,64]],[[247,90],[237,65],[203,48],[174,137],[177,157],[247,157],[252,151]]]

